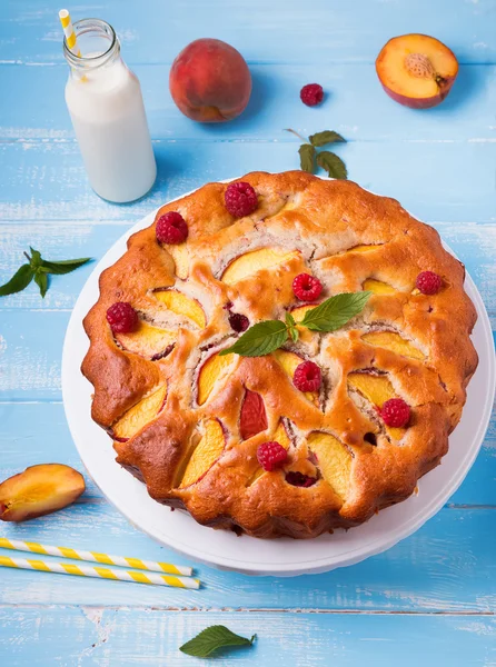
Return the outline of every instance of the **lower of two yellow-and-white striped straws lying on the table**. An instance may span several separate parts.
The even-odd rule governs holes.
[[[173,588],[198,589],[200,587],[200,581],[198,579],[190,579],[188,577],[153,575],[133,570],[115,570],[108,567],[91,567],[89,565],[72,565],[70,563],[44,563],[43,560],[32,560],[31,558],[9,558],[8,556],[0,556],[0,567],[13,567],[18,569],[71,575],[76,577],[136,581],[138,584],[151,584],[153,586],[172,586]]]

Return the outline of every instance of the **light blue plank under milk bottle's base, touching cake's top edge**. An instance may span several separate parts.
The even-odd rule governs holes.
[[[0,220],[136,219],[209,180],[299,167],[297,140],[269,145],[159,140],[153,146],[159,168],[153,190],[135,205],[116,206],[99,199],[87,185],[75,143],[0,143]],[[346,160],[350,179],[399,199],[420,219],[495,220],[493,142],[443,142],[426,152],[421,142],[357,141],[336,151]]]

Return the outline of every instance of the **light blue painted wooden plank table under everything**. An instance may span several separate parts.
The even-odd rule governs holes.
[[[353,180],[434,225],[496,315],[495,0],[102,0],[70,8],[118,31],[143,89],[159,177],[131,206],[89,188],[63,101],[68,74],[53,0],[0,4],[0,283],[31,245],[50,259],[99,259],[133,222],[209,180],[298,167],[304,135],[334,129]],[[425,32],[460,62],[438,108],[393,102],[374,60],[393,36]],[[254,77],[246,113],[201,126],[168,92],[179,50],[198,37],[237,47]],[[320,108],[302,84],[327,91]],[[62,340],[92,267],[0,299],[0,479],[37,464],[81,469],[61,402]],[[494,320],[493,320],[494,321]],[[217,665],[496,665],[496,427],[439,514],[381,556],[326,575],[249,578],[201,566],[200,591],[0,569],[0,665],[173,667],[211,624],[249,636]],[[88,480],[59,514],[1,535],[185,563],[132,528]]]

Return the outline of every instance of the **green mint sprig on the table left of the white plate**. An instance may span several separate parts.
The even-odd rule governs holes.
[[[30,285],[32,279],[40,288],[40,295],[44,299],[49,287],[48,276],[50,273],[60,276],[62,273],[70,273],[79,267],[82,267],[87,261],[90,261],[89,257],[81,259],[66,259],[62,261],[48,261],[41,257],[41,252],[30,248],[31,256],[24,252],[29,263],[22,265],[12,278],[0,287],[0,297],[7,297],[8,295],[14,295],[22,291]]]

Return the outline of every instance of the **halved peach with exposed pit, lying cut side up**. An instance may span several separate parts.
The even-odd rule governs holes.
[[[427,109],[448,94],[458,73],[458,62],[438,39],[403,34],[383,47],[376,71],[391,99],[413,109]]]

